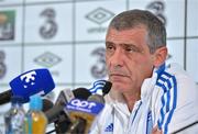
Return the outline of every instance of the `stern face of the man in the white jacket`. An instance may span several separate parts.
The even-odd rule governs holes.
[[[108,31],[106,62],[113,90],[122,93],[140,92],[143,80],[151,77],[154,55],[150,53],[146,35],[144,27]]]

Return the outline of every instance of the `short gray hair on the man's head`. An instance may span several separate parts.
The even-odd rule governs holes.
[[[116,15],[110,22],[109,29],[118,31],[145,26],[147,30],[147,45],[150,52],[166,46],[166,29],[164,23],[153,13],[146,10],[128,10]]]

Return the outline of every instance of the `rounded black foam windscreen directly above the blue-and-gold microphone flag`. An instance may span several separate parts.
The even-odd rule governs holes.
[[[86,88],[77,88],[73,90],[73,93],[75,98],[87,100],[89,96],[91,96],[91,92]]]

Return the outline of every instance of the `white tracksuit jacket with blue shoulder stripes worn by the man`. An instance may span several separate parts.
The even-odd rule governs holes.
[[[151,134],[154,126],[170,134],[198,121],[198,89],[176,64],[154,69],[152,78],[144,80],[141,100],[132,112],[121,96],[106,96],[103,111],[97,116],[90,134]],[[179,134],[198,134],[198,125]]]

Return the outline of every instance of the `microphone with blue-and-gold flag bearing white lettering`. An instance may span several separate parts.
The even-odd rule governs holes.
[[[102,98],[102,96],[100,96]],[[73,124],[69,126],[66,134],[85,134],[89,132],[89,129],[95,121],[95,118],[101,112],[105,104],[103,100],[86,101],[80,99],[73,99],[66,105],[66,110],[69,111],[69,115]]]

